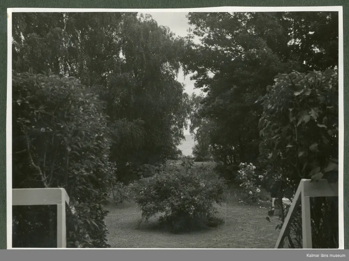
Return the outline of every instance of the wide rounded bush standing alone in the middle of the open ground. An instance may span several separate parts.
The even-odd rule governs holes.
[[[164,171],[129,185],[147,221],[157,213],[173,232],[217,225],[214,202],[224,200],[224,180],[209,169]]]

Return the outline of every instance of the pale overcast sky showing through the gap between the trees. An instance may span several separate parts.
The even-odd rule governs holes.
[[[151,12],[147,13],[150,14],[153,19],[158,23],[158,25],[164,25],[170,28],[172,32],[174,32],[177,36],[187,36],[189,29],[188,19],[185,17],[187,13],[177,13],[177,12],[171,12],[171,13],[164,13],[164,12]],[[198,39],[197,39],[198,41]],[[184,78],[183,71],[180,70],[178,74],[178,81],[185,84],[185,92],[189,95],[191,95],[193,92],[196,94],[200,93],[199,89],[194,89],[194,81],[191,81],[190,75],[187,75]],[[190,134],[189,129],[184,130],[184,134]]]

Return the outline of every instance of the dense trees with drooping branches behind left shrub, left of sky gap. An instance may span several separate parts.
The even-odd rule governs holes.
[[[181,38],[136,13],[16,13],[13,21],[14,70],[79,77],[106,102],[112,161],[173,155],[189,109],[176,80]]]

